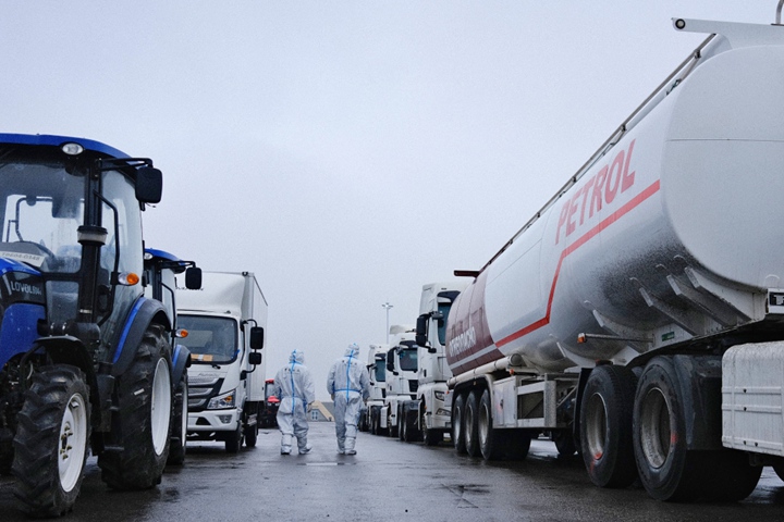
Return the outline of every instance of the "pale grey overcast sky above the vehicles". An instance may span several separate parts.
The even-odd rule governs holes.
[[[0,0],[1,132],[149,157],[147,246],[256,273],[268,374],[481,268],[703,39],[775,0]],[[364,357],[363,356],[363,357]]]

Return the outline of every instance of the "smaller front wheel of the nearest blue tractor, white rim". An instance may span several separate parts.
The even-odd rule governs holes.
[[[36,373],[14,438],[14,495],[24,511],[59,517],[73,508],[89,436],[89,390],[82,371],[63,364]]]

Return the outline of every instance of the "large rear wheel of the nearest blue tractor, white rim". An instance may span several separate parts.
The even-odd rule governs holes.
[[[163,327],[150,324],[127,371],[115,386],[115,443],[98,457],[101,478],[113,489],[160,484],[169,457],[172,412],[170,348]]]

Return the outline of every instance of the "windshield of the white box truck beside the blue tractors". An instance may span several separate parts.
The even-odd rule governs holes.
[[[188,333],[179,341],[191,350],[195,363],[225,364],[236,359],[237,326],[233,319],[182,314],[177,315],[177,326]]]

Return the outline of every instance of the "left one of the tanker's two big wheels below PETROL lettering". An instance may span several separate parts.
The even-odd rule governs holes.
[[[580,444],[591,482],[627,487],[637,478],[632,417],[636,377],[626,366],[593,369],[583,393]]]

